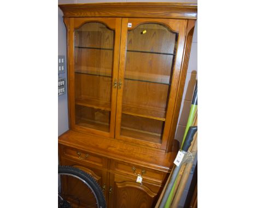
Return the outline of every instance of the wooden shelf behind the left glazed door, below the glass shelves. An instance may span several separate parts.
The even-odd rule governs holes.
[[[75,105],[97,108],[105,111],[110,111],[111,109],[110,102],[102,101],[102,100],[94,100],[88,97],[75,99]]]

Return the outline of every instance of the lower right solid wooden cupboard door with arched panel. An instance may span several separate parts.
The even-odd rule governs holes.
[[[154,207],[160,186],[147,182],[136,183],[135,178],[110,174],[109,208],[150,208]]]

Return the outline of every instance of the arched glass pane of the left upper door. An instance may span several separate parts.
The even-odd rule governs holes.
[[[99,22],[74,32],[75,124],[109,132],[114,30]]]

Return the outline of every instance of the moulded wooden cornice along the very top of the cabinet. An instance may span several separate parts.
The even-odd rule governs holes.
[[[65,17],[151,17],[197,19],[197,3],[119,2],[60,4]]]

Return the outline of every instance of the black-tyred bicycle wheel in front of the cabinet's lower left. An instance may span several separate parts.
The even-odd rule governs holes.
[[[59,166],[59,208],[106,208],[106,200],[97,181],[88,173],[71,166]]]

